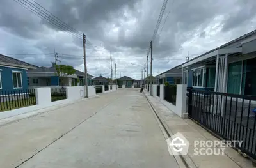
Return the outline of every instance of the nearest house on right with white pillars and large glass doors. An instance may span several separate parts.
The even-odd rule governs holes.
[[[182,83],[202,90],[256,96],[256,30],[182,64]]]

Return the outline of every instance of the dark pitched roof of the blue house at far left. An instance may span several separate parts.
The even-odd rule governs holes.
[[[28,69],[38,68],[38,66],[31,65],[24,61],[20,61],[19,59],[15,59],[13,57],[4,56],[3,54],[0,54],[0,62],[3,65],[11,65],[11,66],[15,65],[20,68],[28,68]]]

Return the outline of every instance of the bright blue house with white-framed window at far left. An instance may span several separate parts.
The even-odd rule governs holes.
[[[19,91],[28,89],[27,71],[38,68],[24,61],[0,54],[0,89]]]

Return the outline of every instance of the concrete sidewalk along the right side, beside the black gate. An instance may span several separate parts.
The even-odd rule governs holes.
[[[157,115],[163,122],[169,134],[172,136],[177,132],[180,132],[189,141],[188,155],[184,156],[184,160],[189,167],[202,167],[202,168],[223,168],[223,167],[253,167],[250,160],[242,157],[232,148],[225,149],[225,155],[194,155],[194,141],[195,140],[220,140],[214,137],[212,134],[204,130],[199,125],[196,125],[191,119],[182,119],[174,112],[170,111],[163,103],[159,102],[153,96],[145,91],[145,96],[153,106]]]

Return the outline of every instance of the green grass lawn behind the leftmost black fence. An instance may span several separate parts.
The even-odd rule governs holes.
[[[12,109],[19,109],[30,105],[36,105],[36,98],[31,97],[29,99],[13,100],[0,103],[0,112],[10,111]]]

